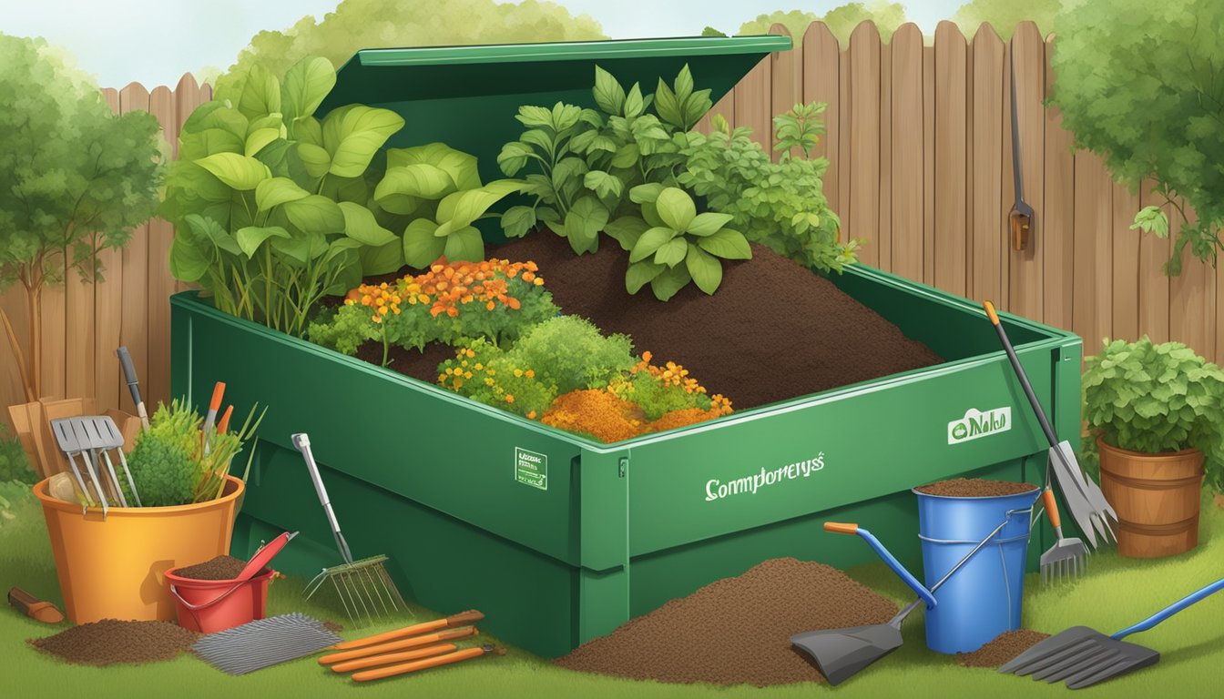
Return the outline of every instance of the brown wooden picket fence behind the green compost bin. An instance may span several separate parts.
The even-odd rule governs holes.
[[[761,61],[714,113],[764,138],[772,115],[799,102],[827,103],[818,148],[830,159],[825,193],[843,233],[867,241],[860,257],[868,264],[1070,328],[1084,338],[1086,353],[1106,335],[1147,333],[1224,360],[1224,268],[1187,261],[1181,277],[1160,273],[1169,242],[1129,230],[1147,193],[1114,184],[1100,158],[1072,152],[1058,110],[1043,107],[1053,51],[1053,39],[1027,22],[1011,42],[989,27],[966,39],[942,22],[933,45],[914,24],[884,44],[875,26],[863,23],[847,47],[818,22],[794,49]],[[1037,212],[1023,252],[1011,250],[1006,228],[1012,62],[1024,198]],[[174,91],[130,84],[104,93],[119,111],[152,111],[171,143],[191,110],[209,99],[191,76]],[[114,359],[126,344],[146,400],[166,399],[166,297],[179,288],[166,266],[170,239],[170,226],[154,220],[121,252],[105,253],[109,272],[97,288],[70,280],[44,294],[48,395],[92,393],[103,406],[131,410]],[[28,315],[21,289],[0,304],[22,333]],[[6,344],[0,364],[13,366]],[[6,368],[0,405],[18,402],[16,370]]]

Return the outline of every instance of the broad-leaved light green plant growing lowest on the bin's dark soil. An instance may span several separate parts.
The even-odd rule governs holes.
[[[649,283],[655,297],[666,301],[689,282],[714,294],[722,284],[720,258],[753,256],[744,235],[726,228],[731,214],[696,213],[684,190],[639,185],[629,196],[641,204],[644,218],[622,217],[607,233],[629,251],[624,285],[630,294]]]

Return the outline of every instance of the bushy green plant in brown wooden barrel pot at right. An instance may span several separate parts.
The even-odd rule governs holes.
[[[1118,551],[1154,558],[1198,544],[1203,480],[1224,491],[1224,371],[1181,343],[1105,340],[1086,361],[1083,417]]]

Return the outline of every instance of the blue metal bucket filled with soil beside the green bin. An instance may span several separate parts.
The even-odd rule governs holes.
[[[918,539],[930,588],[1006,519],[1004,528],[935,592],[927,611],[927,646],[971,652],[1020,628],[1029,517],[1040,492],[947,497],[919,492]]]

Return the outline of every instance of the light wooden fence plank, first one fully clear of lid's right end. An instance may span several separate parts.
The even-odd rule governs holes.
[[[824,22],[813,22],[808,31],[803,33],[803,102],[824,102],[825,108],[825,136],[816,143],[814,157],[829,158],[829,169],[825,170],[825,198],[834,213],[841,215],[838,208],[838,168],[841,158],[837,154],[840,136],[840,59],[837,39]]]

